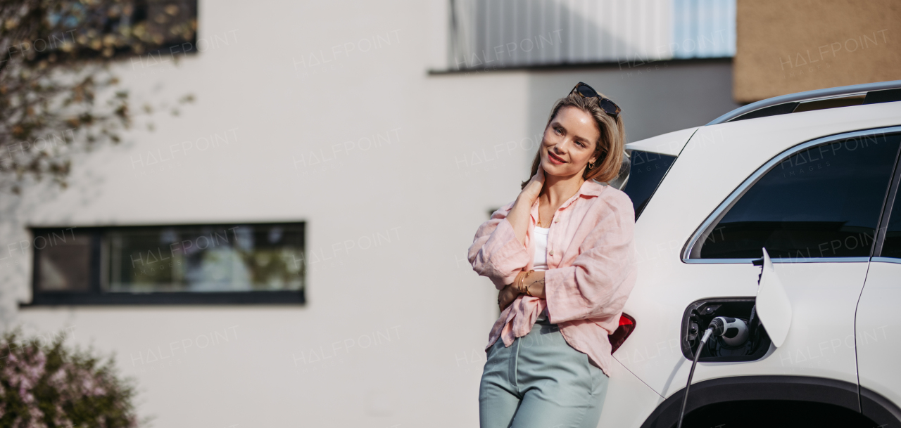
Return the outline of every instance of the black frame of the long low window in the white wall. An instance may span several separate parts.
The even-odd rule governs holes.
[[[188,223],[188,224],[152,224],[114,227],[28,227],[32,234],[32,244],[36,236],[48,232],[73,230],[75,233],[88,233],[90,242],[89,283],[88,291],[47,291],[38,290],[40,284],[41,255],[37,245],[32,245],[32,302],[20,303],[20,308],[39,306],[86,306],[86,305],[305,305],[305,290],[308,271],[305,258],[301,263],[302,287],[300,290],[256,290],[256,291],[152,291],[152,292],[105,292],[102,287],[104,260],[102,239],[108,231],[126,230],[146,227],[247,227],[247,226],[300,226],[302,230],[302,248],[306,254],[306,222],[243,222],[243,223]],[[68,232],[66,232],[68,233]],[[108,266],[107,266],[108,268]]]

